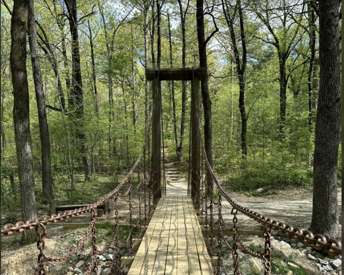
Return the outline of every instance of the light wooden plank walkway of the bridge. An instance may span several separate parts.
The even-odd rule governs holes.
[[[213,275],[190,196],[159,200],[128,275]]]

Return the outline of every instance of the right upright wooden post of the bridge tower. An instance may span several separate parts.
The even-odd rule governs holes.
[[[191,197],[195,207],[200,207],[200,138],[196,111],[200,114],[200,80],[191,82]]]

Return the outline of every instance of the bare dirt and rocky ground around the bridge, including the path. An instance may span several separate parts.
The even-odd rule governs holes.
[[[169,158],[169,164],[167,165],[170,173],[167,173],[168,182],[172,182],[176,177],[185,179],[185,181],[178,181],[178,187],[185,191],[187,187],[185,169],[181,171],[180,163],[176,162],[173,158]],[[172,176],[172,178],[171,178]],[[169,184],[169,183],[168,183]],[[177,187],[177,186],[175,186]],[[312,189],[294,188],[283,191],[276,191],[274,194],[262,197],[251,197],[243,193],[233,193],[227,190],[234,201],[238,204],[248,207],[254,211],[258,211],[263,215],[272,219],[277,219],[286,223],[292,224],[294,227],[300,227],[301,229],[307,229],[311,222],[312,217]],[[342,206],[342,189],[339,189],[338,200],[340,207]],[[111,205],[113,202],[111,202]],[[133,205],[137,204],[137,199],[133,200]],[[231,207],[225,200],[222,201],[222,213],[224,219],[229,227],[231,227],[232,215],[230,214]],[[128,202],[123,201],[119,208],[121,219],[124,219],[128,213]],[[214,214],[216,214],[216,207],[214,207]],[[133,218],[138,218],[135,212]],[[245,230],[259,230],[259,224],[244,216],[238,214],[238,229]],[[106,244],[106,241],[111,238],[114,232],[115,218],[111,217],[104,225],[98,225],[97,238],[98,245],[102,246]],[[67,220],[67,222],[90,222],[90,215],[85,214],[74,217]],[[100,224],[101,222],[97,223]],[[124,227],[123,227],[124,228]],[[342,225],[341,225],[342,229]],[[87,225],[76,228],[73,230],[65,231],[63,229],[63,223],[57,222],[55,224],[48,225],[48,236],[45,237],[45,253],[47,256],[62,256],[63,253],[68,253],[73,250],[81,241],[83,235],[87,231]],[[120,232],[120,240],[125,242],[128,234],[128,228],[124,228]],[[135,236],[137,236],[135,231]],[[20,235],[15,234],[13,236],[5,237],[1,236],[1,275],[22,275],[33,274],[37,265],[38,250],[36,244],[31,244],[22,247],[20,245]],[[245,245],[250,249],[261,253],[264,247],[264,239],[255,236],[244,236],[242,238]],[[231,238],[228,238],[229,243]],[[232,260],[230,251],[223,248],[222,255],[224,257],[224,264],[227,272],[232,274]],[[113,251],[110,251],[113,252]],[[313,255],[317,261],[322,259],[331,262],[332,259],[327,258],[326,254],[319,253],[309,246],[304,246],[302,243],[298,243],[295,240],[283,237],[273,232],[272,240],[272,274],[273,275],[319,275],[322,274],[318,267],[317,262],[308,259],[308,254]],[[121,256],[128,255],[128,248],[121,250]],[[87,241],[84,248],[81,250],[81,254],[74,259],[70,259],[61,263],[47,263],[47,275],[74,275],[78,274],[76,266],[80,265],[80,270],[85,272],[88,267],[88,263],[92,257],[92,243]],[[252,257],[245,254],[243,249],[239,246],[238,250],[238,263],[239,269],[242,275],[250,275],[251,269],[249,262],[252,261]],[[259,261],[256,262],[262,269],[262,264]],[[110,261],[100,261],[100,266],[104,271],[107,266],[110,265]],[[293,266],[294,265],[294,266]],[[331,266],[331,265],[329,265]],[[127,271],[125,269],[124,271]],[[263,274],[263,269],[262,273]],[[337,271],[329,270],[327,275],[342,275],[341,268]]]

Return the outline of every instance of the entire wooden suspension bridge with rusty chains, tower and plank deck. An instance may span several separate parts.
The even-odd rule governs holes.
[[[342,254],[342,243],[336,239],[327,239],[308,230],[294,228],[277,220],[265,217],[235,203],[221,187],[207,159],[199,123],[200,81],[206,76],[202,68],[191,69],[146,69],[146,78],[152,81],[153,107],[150,123],[146,129],[142,150],[129,173],[109,194],[91,206],[67,210],[36,220],[18,221],[6,224],[1,234],[35,230],[39,250],[38,265],[35,275],[45,274],[47,262],[62,262],[80,251],[87,240],[92,241],[93,258],[85,275],[97,274],[99,255],[115,247],[115,256],[107,275],[220,275],[229,274],[223,263],[222,247],[227,247],[232,256],[233,273],[240,275],[237,249],[240,245],[252,257],[260,259],[265,275],[271,275],[271,233],[278,231],[286,237],[293,238],[306,245],[312,245],[329,255]],[[167,182],[166,159],[163,133],[163,116],[161,100],[161,81],[191,81],[191,126],[189,148],[189,175],[185,189],[173,186],[173,180]],[[149,148],[151,140],[151,148]],[[219,198],[214,199],[214,187],[219,191]],[[109,199],[114,199],[111,211],[105,216],[97,216],[96,209]],[[129,204],[128,214],[120,218],[119,209]],[[231,207],[232,223],[225,222],[222,215],[222,201]],[[91,224],[80,243],[67,255],[48,257],[44,253],[44,236],[48,234],[46,225],[62,221],[80,214],[91,213]],[[241,239],[243,232],[237,229],[238,212],[261,224],[259,232],[265,238],[264,252],[251,251]],[[134,214],[138,217],[134,219]],[[115,217],[115,232],[103,247],[97,245],[96,227],[98,221]],[[120,240],[119,227],[129,226],[125,241]],[[138,227],[138,239],[133,238],[133,229]],[[232,240],[226,236],[232,236]],[[120,252],[129,247],[128,255],[121,257]],[[138,247],[138,248],[137,248]],[[136,253],[134,253],[136,251]]]

